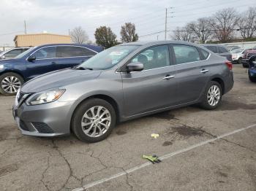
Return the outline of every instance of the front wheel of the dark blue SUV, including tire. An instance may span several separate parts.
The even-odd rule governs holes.
[[[5,73],[0,76],[0,93],[3,95],[15,95],[23,85],[24,80],[16,73]]]

